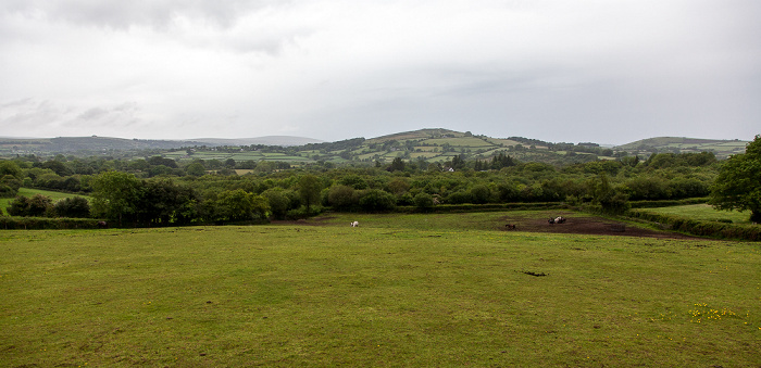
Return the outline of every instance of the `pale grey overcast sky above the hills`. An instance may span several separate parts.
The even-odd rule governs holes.
[[[761,134],[758,0],[2,0],[0,136]]]

